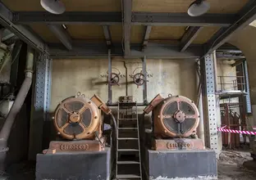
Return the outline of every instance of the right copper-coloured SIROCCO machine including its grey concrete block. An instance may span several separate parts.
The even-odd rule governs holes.
[[[144,109],[152,112],[152,131],[145,131],[144,179],[216,178],[215,151],[206,149],[196,135],[199,110],[187,97],[154,97]],[[207,164],[207,165],[206,165]],[[187,169],[186,171],[181,171]]]

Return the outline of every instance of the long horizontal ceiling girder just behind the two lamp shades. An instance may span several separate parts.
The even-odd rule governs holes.
[[[95,24],[121,25],[121,12],[64,12],[54,15],[45,11],[15,11],[16,24],[45,23],[57,25]],[[199,17],[187,13],[131,12],[131,25],[173,25],[173,26],[222,26],[227,27],[235,20],[235,15],[206,14]]]

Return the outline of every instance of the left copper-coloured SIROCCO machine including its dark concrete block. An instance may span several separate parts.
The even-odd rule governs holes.
[[[69,179],[71,173],[80,172],[83,179],[109,179],[113,148],[107,139],[112,133],[103,133],[103,113],[111,115],[115,124],[112,110],[97,95],[89,99],[78,92],[63,100],[53,116],[58,141],[37,155],[36,178]]]

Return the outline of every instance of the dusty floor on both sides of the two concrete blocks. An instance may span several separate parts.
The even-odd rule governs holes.
[[[249,151],[222,151],[218,160],[218,179],[256,179],[256,161]],[[209,178],[180,178],[179,180],[208,180]],[[0,180],[34,180],[34,163],[14,164],[6,173],[0,173]]]

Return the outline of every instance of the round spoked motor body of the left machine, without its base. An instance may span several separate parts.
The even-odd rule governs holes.
[[[96,99],[94,97],[94,101]],[[62,101],[55,110],[53,120],[57,132],[69,140],[94,139],[96,132],[98,137],[102,137],[102,115],[94,101],[84,96]]]

